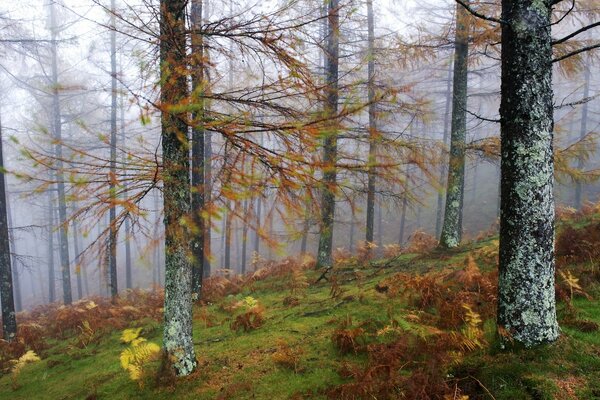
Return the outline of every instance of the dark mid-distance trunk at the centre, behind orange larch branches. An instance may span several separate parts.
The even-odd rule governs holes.
[[[317,267],[328,267],[332,263],[333,220],[335,215],[335,185],[337,163],[337,113],[338,113],[338,66],[339,66],[339,5],[338,0],[327,0],[328,27],[326,49],[327,101],[325,116],[329,118],[323,143],[323,188],[321,199],[321,226]]]

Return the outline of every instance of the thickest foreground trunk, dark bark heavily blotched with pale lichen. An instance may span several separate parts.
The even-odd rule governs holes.
[[[498,326],[531,347],[558,338],[554,298],[550,0],[502,1]]]

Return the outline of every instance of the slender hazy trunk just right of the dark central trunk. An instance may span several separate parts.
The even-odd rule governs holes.
[[[368,26],[368,101],[369,101],[369,160],[367,163],[367,226],[365,240],[373,243],[373,225],[375,215],[375,180],[377,164],[377,116],[375,110],[375,23],[373,21],[373,0],[367,0]]]

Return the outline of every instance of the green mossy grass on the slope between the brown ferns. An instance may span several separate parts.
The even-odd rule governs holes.
[[[52,341],[43,360],[27,365],[13,388],[10,374],[0,377],[0,399],[321,399],[326,389],[347,381],[339,370],[346,363],[365,364],[364,354],[340,354],[331,336],[347,320],[371,321],[384,326],[390,319],[400,326],[415,324],[402,298],[375,290],[377,283],[398,271],[425,273],[440,268],[461,268],[466,254],[489,248],[493,241],[471,243],[452,253],[402,256],[393,263],[380,261],[356,266],[341,274],[336,298],[327,283],[309,286],[297,306],[285,306],[286,285],[277,278],[257,281],[237,295],[206,306],[196,306],[194,342],[199,368],[192,376],[157,385],[149,376],[143,387],[129,379],[119,364],[126,347],[120,331],[105,335],[87,348],[73,347],[72,339]],[[385,267],[385,268],[382,268]],[[490,265],[482,266],[492,268]],[[316,273],[308,272],[309,281]],[[239,311],[231,305],[246,296],[265,310],[265,324],[256,330],[230,328]],[[579,319],[600,324],[600,304],[577,298]],[[561,312],[562,314],[565,311]],[[410,322],[409,322],[410,321]],[[480,399],[600,399],[600,334],[563,327],[559,341],[533,350],[499,351],[493,321],[485,323],[491,345],[452,366],[450,375],[470,398]],[[151,320],[134,321],[142,336],[161,343],[161,326]],[[273,354],[285,343],[299,354],[294,371],[278,365]],[[158,362],[149,366],[153,372]]]

